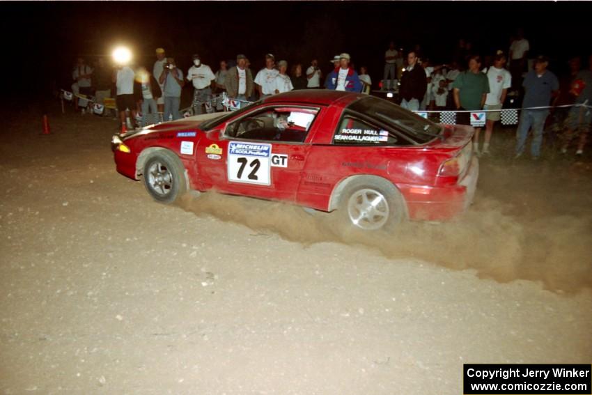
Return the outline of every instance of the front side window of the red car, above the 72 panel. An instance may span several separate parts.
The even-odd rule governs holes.
[[[226,135],[233,139],[302,143],[306,139],[317,110],[264,109],[231,123]]]

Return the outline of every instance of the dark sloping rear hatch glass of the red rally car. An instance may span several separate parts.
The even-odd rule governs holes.
[[[402,109],[387,100],[371,96],[356,100],[348,106],[348,109],[386,123],[419,144],[432,141],[434,137],[439,137],[442,131],[441,127],[426,118]]]

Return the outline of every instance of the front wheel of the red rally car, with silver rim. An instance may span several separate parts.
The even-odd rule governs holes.
[[[160,203],[174,203],[187,192],[185,168],[168,150],[156,151],[146,159],[143,183],[148,194]]]

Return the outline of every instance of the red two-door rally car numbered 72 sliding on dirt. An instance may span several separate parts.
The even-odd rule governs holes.
[[[478,178],[472,135],[368,95],[303,90],[111,143],[117,171],[142,178],[157,201],[214,190],[336,210],[371,231],[463,212]]]

